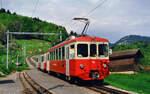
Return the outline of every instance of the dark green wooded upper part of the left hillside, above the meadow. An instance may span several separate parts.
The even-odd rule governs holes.
[[[43,33],[56,33],[59,34],[62,31],[63,40],[66,39],[68,33],[63,26],[58,26],[56,24],[42,21],[39,18],[30,18],[26,16],[21,16],[16,13],[11,13],[9,10],[0,9],[0,41],[5,44],[5,32],[9,30],[10,32],[43,32]],[[58,35],[53,36],[39,36],[39,35],[15,35],[13,36],[17,39],[40,39],[51,42],[57,42],[59,40]],[[55,38],[55,39],[54,39]]]

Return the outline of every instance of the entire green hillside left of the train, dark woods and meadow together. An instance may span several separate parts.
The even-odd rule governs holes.
[[[10,35],[9,41],[9,69],[6,68],[6,31],[10,32],[42,32],[56,33],[52,36],[39,35]],[[35,55],[45,52],[54,42],[59,41],[59,32],[62,31],[63,40],[68,33],[63,26],[42,21],[39,18],[30,18],[0,9],[0,77],[13,71],[29,69],[24,62],[23,46],[26,45],[26,55]],[[18,62],[21,66],[16,66]]]

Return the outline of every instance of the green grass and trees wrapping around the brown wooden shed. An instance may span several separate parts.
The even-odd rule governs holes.
[[[137,42],[133,44],[121,44],[116,45],[113,51],[121,51],[128,49],[140,49],[143,54],[143,58],[139,60],[139,66],[141,68],[138,74],[111,74],[105,79],[105,82],[112,86],[122,88],[129,91],[134,91],[140,94],[150,93],[150,71],[145,67],[150,67],[150,43],[149,42]]]

